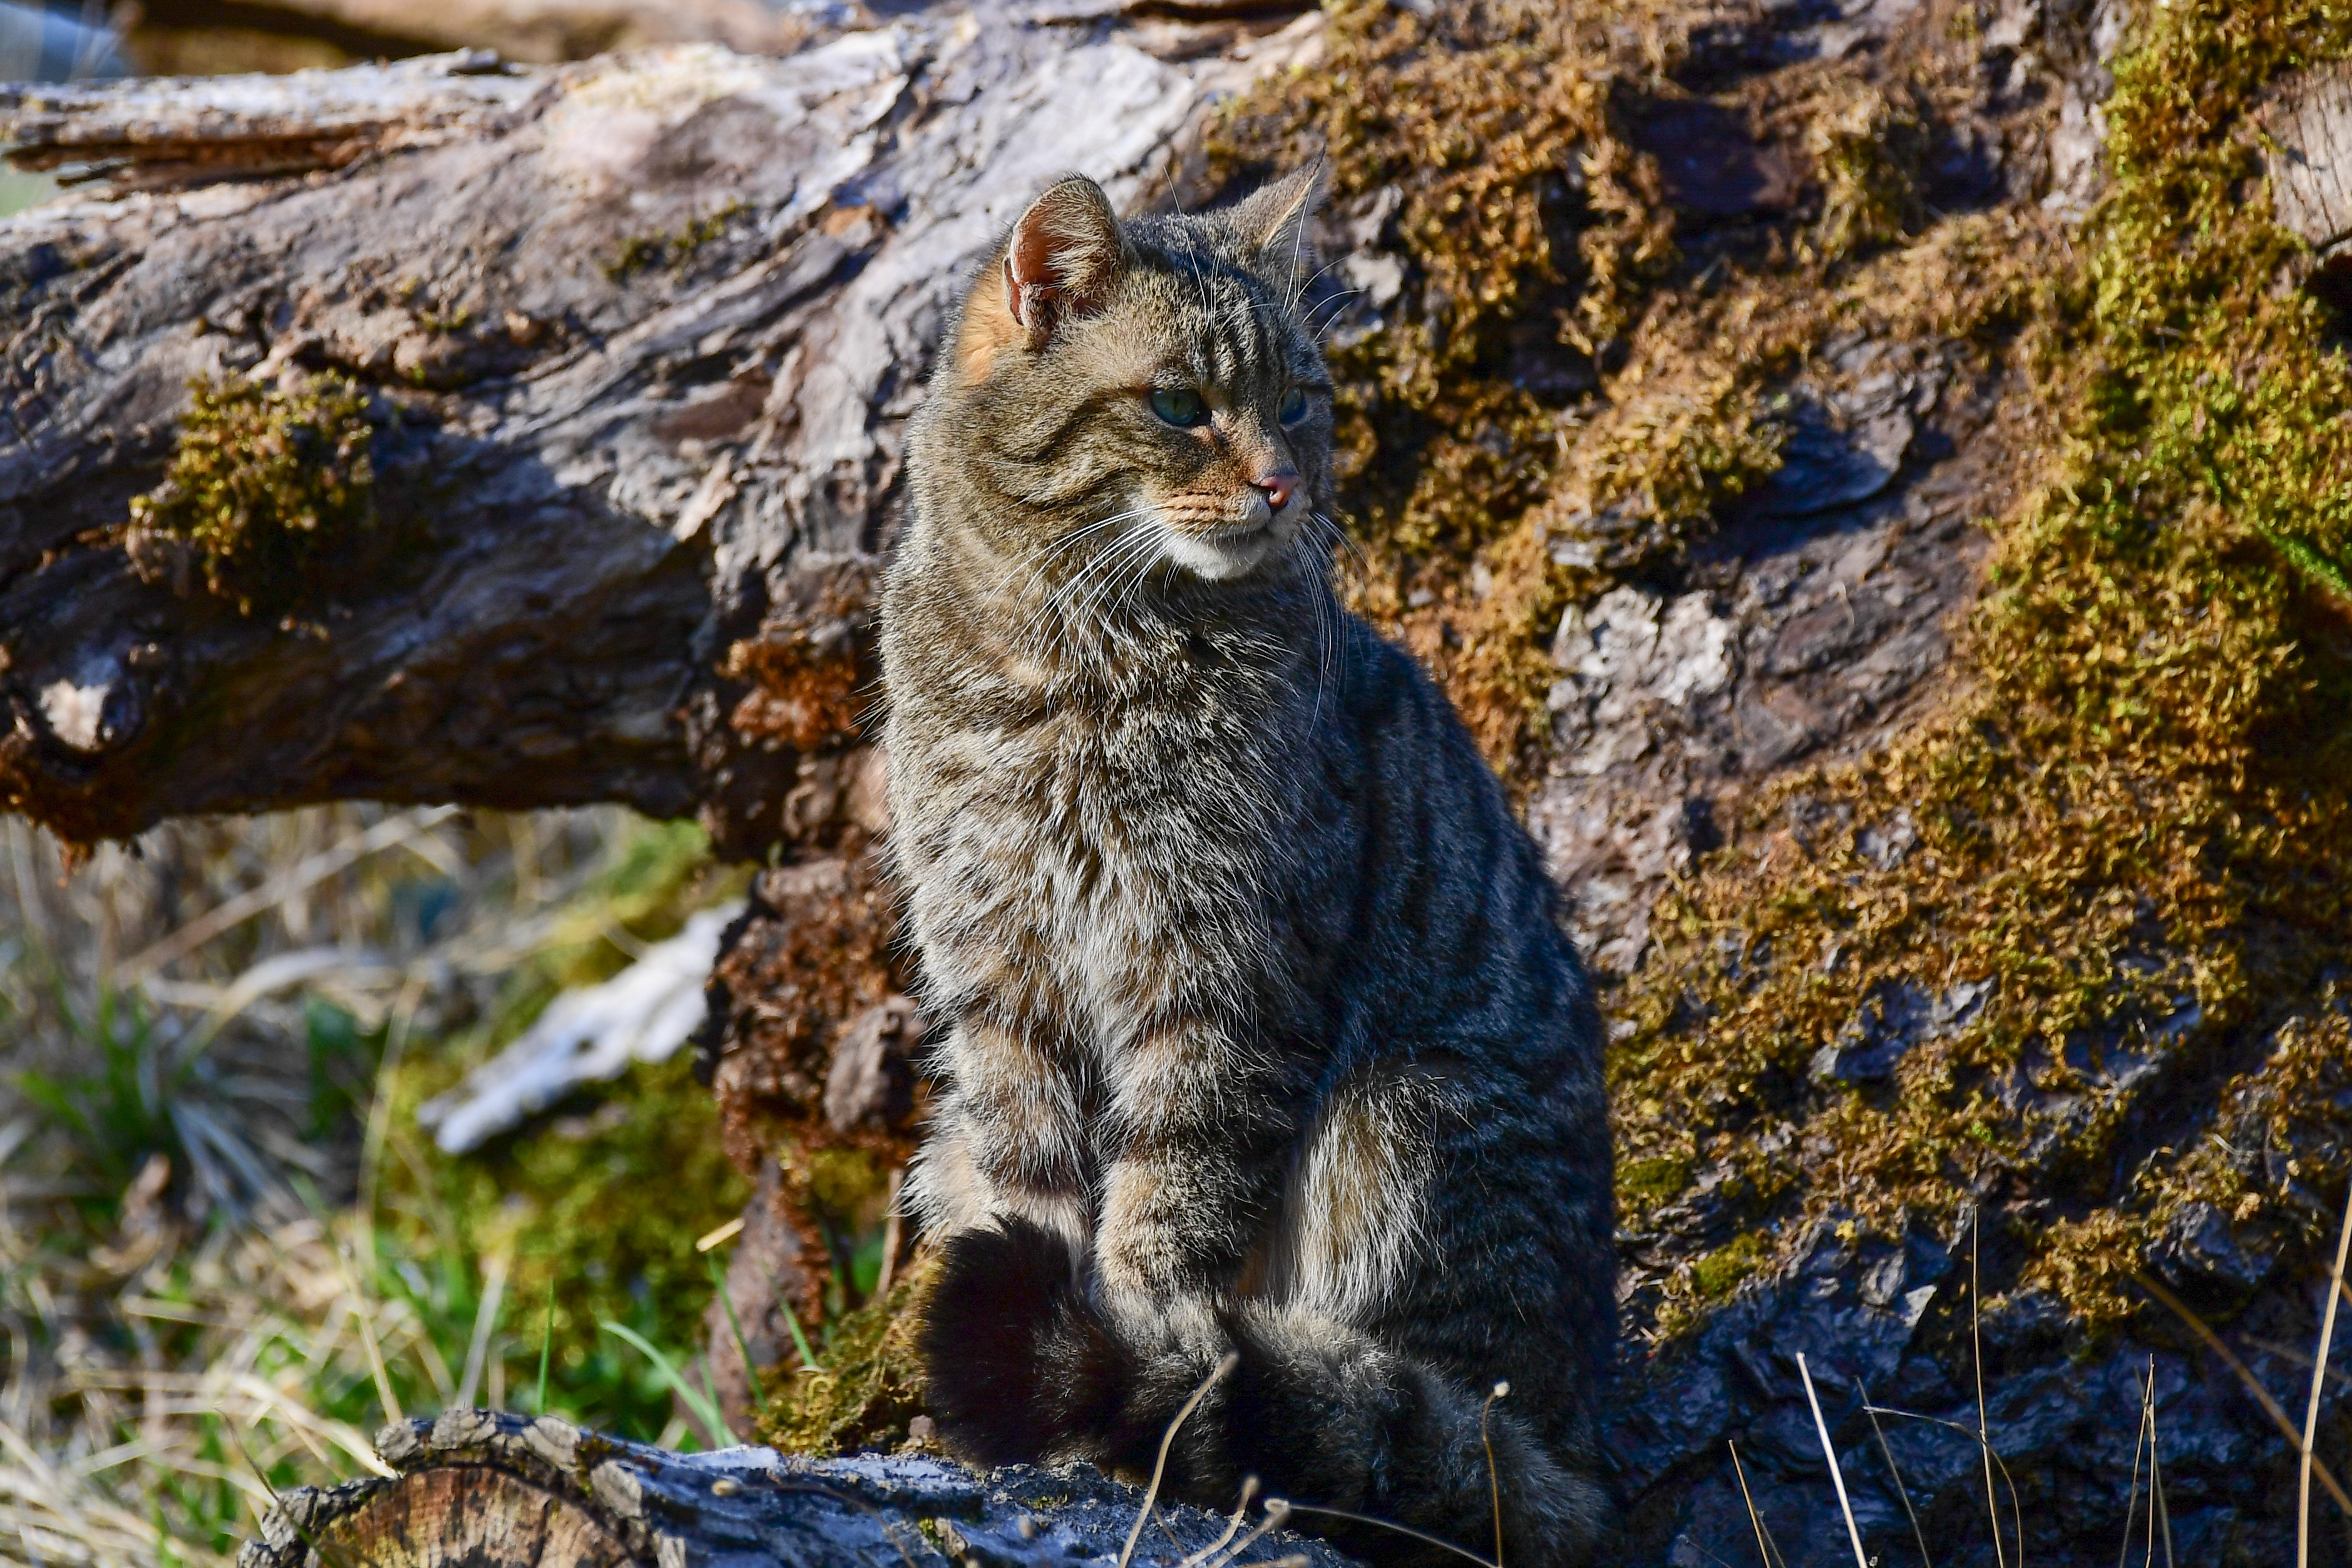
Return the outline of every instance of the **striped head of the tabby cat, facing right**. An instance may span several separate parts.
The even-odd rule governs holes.
[[[1312,174],[1122,223],[1070,176],[1007,230],[934,378],[924,461],[1047,581],[1251,578],[1322,529],[1331,378],[1298,310]],[[1103,555],[1117,550],[1105,564]]]

